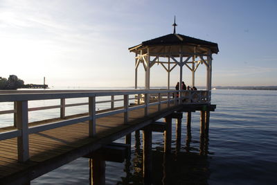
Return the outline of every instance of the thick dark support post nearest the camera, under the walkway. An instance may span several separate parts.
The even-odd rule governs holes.
[[[101,159],[89,159],[89,177],[90,184],[102,185],[105,184],[105,168],[106,162]]]

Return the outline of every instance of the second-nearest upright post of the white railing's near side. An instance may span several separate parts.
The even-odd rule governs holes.
[[[93,137],[96,135],[96,97],[89,97],[89,136]]]

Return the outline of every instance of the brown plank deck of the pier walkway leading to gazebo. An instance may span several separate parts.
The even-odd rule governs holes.
[[[176,93],[176,92],[175,92]],[[175,96],[176,97],[176,96]],[[42,132],[28,134],[28,160],[18,161],[18,137],[2,139],[0,141],[0,184],[24,184],[30,182],[55,168],[69,163],[79,157],[88,155],[102,146],[120,139],[136,130],[154,123],[159,118],[166,117],[173,112],[195,111],[207,109],[206,104],[183,105],[176,100],[161,102],[158,105],[146,106],[148,115],[145,116],[145,107],[127,110],[127,123],[125,112],[111,114],[96,118],[96,134],[89,136],[89,121],[55,127]],[[127,101],[128,103],[128,101]],[[145,101],[147,105],[148,101]],[[129,104],[129,103],[128,103]],[[156,103],[157,104],[157,103]],[[160,106],[160,107],[159,107]],[[116,109],[120,109],[118,107]],[[116,109],[106,109],[96,114],[110,112]],[[208,105],[208,110],[215,107]],[[57,121],[71,120],[87,116],[78,114],[64,118],[30,123],[28,127],[47,125]],[[0,134],[17,130],[16,127],[0,128]]]

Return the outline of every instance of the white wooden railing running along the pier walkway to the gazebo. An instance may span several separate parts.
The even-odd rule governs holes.
[[[180,94],[180,96],[179,96]],[[135,96],[129,98],[129,96]],[[96,101],[96,97],[109,96],[109,100]],[[123,98],[115,99],[115,96]],[[154,98],[153,98],[154,97]],[[18,160],[27,161],[29,159],[28,135],[57,127],[72,125],[84,121],[89,121],[89,136],[96,134],[96,118],[111,116],[114,114],[124,114],[124,123],[128,123],[129,111],[134,109],[144,109],[145,116],[149,114],[149,107],[157,105],[158,112],[161,111],[161,104],[204,104],[210,103],[209,91],[176,91],[176,90],[107,90],[107,91],[1,91],[0,102],[14,102],[14,109],[0,111],[0,114],[14,114],[15,130],[0,133],[0,141],[17,137]],[[66,98],[88,98],[87,103],[66,104]],[[143,99],[141,99],[143,98]],[[28,101],[60,99],[60,105],[32,107],[28,108]],[[154,99],[154,100],[153,100]],[[129,105],[129,100],[136,100],[136,105]],[[123,101],[123,107],[115,107],[115,102]],[[96,104],[111,103],[107,111],[96,112]],[[88,116],[71,118],[43,125],[29,127],[28,112],[43,109],[60,109],[60,118],[65,117],[65,108],[73,106],[89,105]]]

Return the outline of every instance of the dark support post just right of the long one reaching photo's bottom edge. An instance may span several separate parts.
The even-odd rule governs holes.
[[[164,152],[171,152],[171,139],[172,139],[172,116],[166,116],[166,129],[163,132],[164,137]]]

